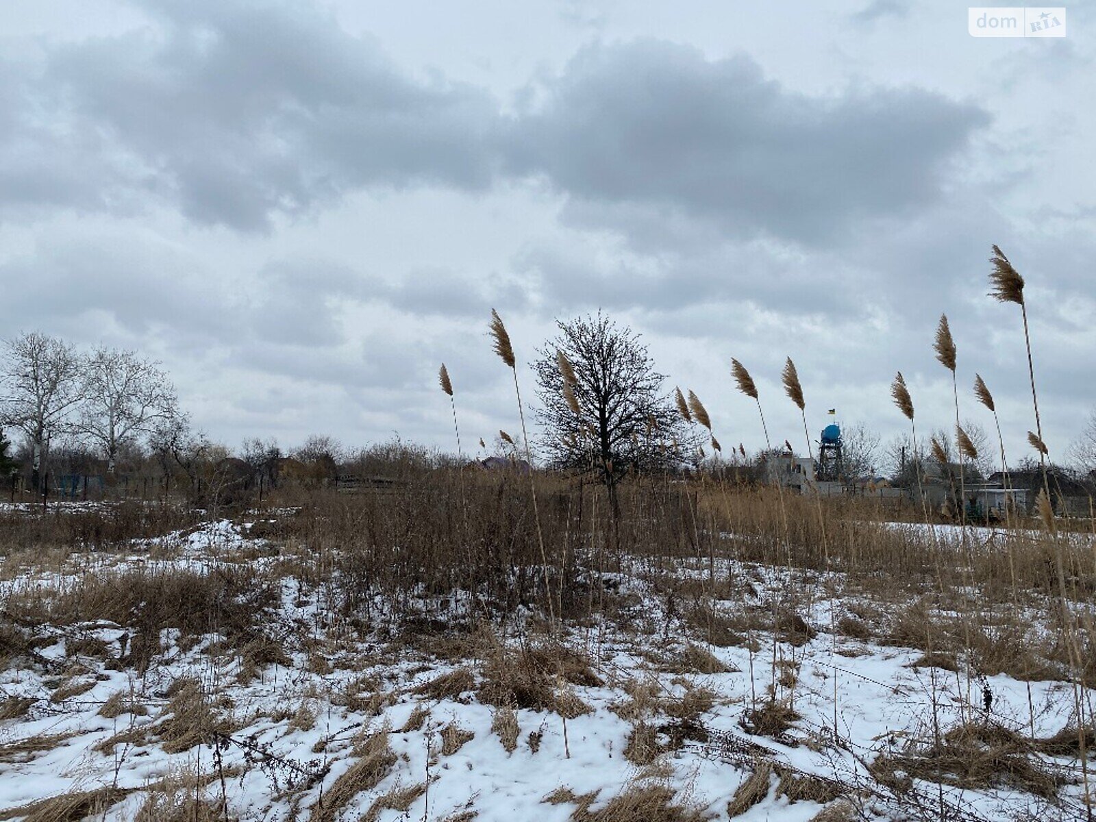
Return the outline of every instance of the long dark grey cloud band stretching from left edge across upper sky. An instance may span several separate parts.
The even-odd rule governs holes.
[[[567,194],[564,218],[587,227],[671,209],[739,237],[822,246],[855,220],[935,203],[989,123],[937,93],[808,96],[745,56],[639,41],[581,50],[504,126],[487,91],[413,79],[307,7],[147,10],[156,26],[0,66],[9,212],[163,202],[195,222],[266,229],[361,189],[484,190],[504,163]]]

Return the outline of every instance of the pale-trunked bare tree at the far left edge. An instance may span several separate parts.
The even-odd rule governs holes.
[[[32,331],[7,343],[3,372],[9,393],[0,407],[0,421],[26,435],[35,490],[50,438],[69,427],[71,413],[83,399],[80,370],[76,347],[64,340]]]

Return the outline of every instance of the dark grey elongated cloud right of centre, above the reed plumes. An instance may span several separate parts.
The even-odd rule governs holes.
[[[812,246],[937,202],[990,123],[918,89],[807,96],[747,57],[709,61],[660,41],[589,47],[546,87],[514,125],[512,171],[608,210],[681,209],[740,237]]]

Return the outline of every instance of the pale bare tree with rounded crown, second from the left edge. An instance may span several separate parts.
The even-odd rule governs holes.
[[[113,475],[123,446],[178,416],[175,388],[159,363],[133,351],[99,347],[85,361],[84,402],[77,423],[106,457]]]

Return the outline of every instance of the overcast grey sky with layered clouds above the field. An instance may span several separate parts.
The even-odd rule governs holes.
[[[1013,455],[1096,404],[1096,12],[1065,38],[972,38],[955,2],[9,0],[0,5],[0,335],[162,361],[238,446],[309,434],[452,447],[518,429],[486,336],[524,364],[555,318],[608,312],[716,435],[779,442],[797,363],[904,429],[963,416],[980,372]]]

